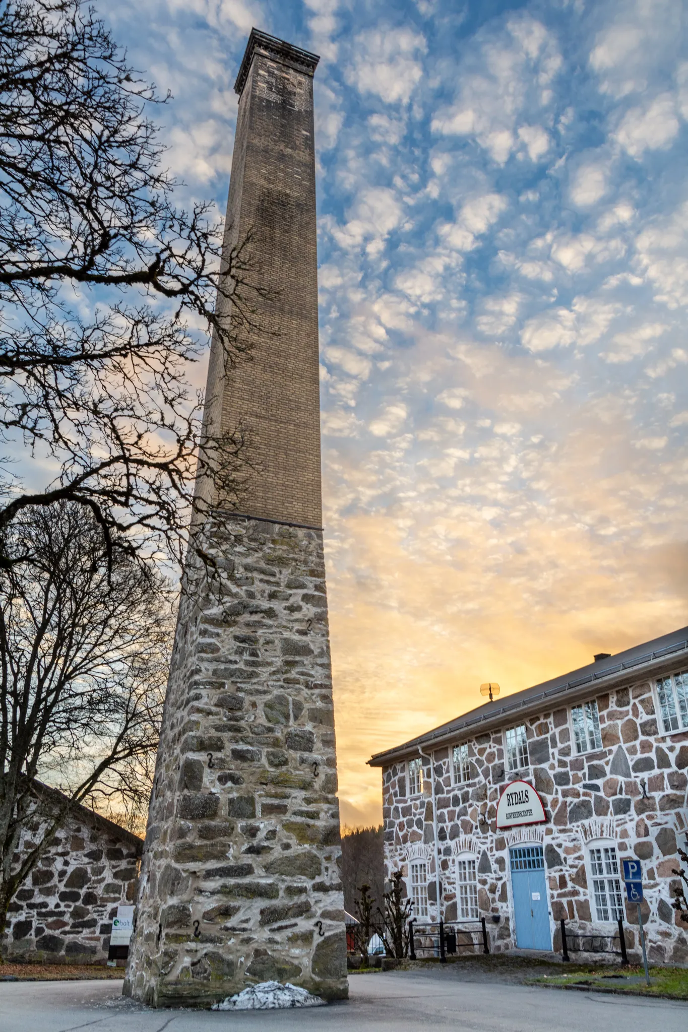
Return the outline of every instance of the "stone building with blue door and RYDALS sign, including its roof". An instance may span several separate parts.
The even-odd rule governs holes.
[[[688,627],[495,699],[369,763],[382,768],[386,876],[403,871],[419,923],[485,916],[493,952],[558,950],[562,918],[567,934],[608,936],[622,918],[637,956],[620,871],[640,859],[649,958],[688,963],[688,927],[670,906],[688,832]],[[537,824],[536,807],[518,808],[537,801],[533,788]],[[498,828],[507,801],[516,823]]]

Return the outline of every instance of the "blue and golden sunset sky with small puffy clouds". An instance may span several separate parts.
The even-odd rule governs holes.
[[[681,0],[121,0],[224,209],[252,26],[316,80],[342,817],[365,761],[688,623]],[[201,377],[201,379],[203,379]]]

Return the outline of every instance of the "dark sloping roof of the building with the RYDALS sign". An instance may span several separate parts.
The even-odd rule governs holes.
[[[668,635],[662,635],[661,638],[654,638],[642,645],[617,652],[616,655],[597,659],[587,667],[580,667],[568,674],[543,681],[542,684],[533,684],[532,687],[515,691],[504,699],[485,703],[484,706],[478,706],[468,713],[433,728],[424,735],[419,735],[418,738],[412,738],[384,752],[376,752],[368,760],[368,764],[370,767],[383,767],[409,752],[417,752],[419,746],[436,747],[439,744],[447,744],[453,738],[466,738],[466,731],[480,734],[489,728],[510,722],[517,714],[527,716],[531,712],[536,712],[544,704],[556,706],[564,698],[568,700],[570,697],[585,696],[590,685],[599,686],[600,690],[604,690],[619,683],[627,683],[628,672],[648,676],[659,673],[667,664],[679,658],[682,652],[688,658],[688,627],[681,627]]]

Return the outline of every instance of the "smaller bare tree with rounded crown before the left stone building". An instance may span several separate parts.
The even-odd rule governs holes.
[[[7,906],[70,804],[148,806],[171,620],[155,572],[76,503],[28,509],[0,571],[0,936]],[[24,561],[13,561],[24,555]],[[18,844],[40,783],[65,794],[42,835]],[[18,859],[19,858],[19,859]]]

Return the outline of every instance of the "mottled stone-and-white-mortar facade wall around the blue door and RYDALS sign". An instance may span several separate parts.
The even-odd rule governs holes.
[[[572,753],[568,708],[563,707],[524,721],[530,760],[526,770],[504,771],[501,728],[469,740],[472,778],[465,784],[453,784],[450,748],[434,752],[445,918],[457,917],[454,858],[459,852],[472,852],[478,860],[480,912],[499,915],[497,925],[488,924],[492,948],[514,947],[509,849],[520,842],[538,842],[544,846],[547,867],[554,948],[560,948],[561,918],[570,923],[567,928],[571,931],[599,931],[591,913],[585,846],[592,839],[613,839],[620,861],[624,857],[643,861],[643,915],[650,960],[687,964],[688,928],[669,901],[671,869],[678,866],[677,839],[683,845],[688,831],[688,733],[659,733],[648,681],[596,699],[602,748],[595,752]],[[521,721],[512,718],[504,727],[515,722]],[[465,736],[461,741],[466,741]],[[385,768],[383,813],[387,876],[399,867],[405,875],[409,857],[426,857],[432,872],[428,896],[434,901],[429,777],[426,763],[425,793],[408,799],[405,763]],[[501,789],[506,781],[519,777],[539,793],[548,823],[496,832]],[[432,905],[431,909],[434,912]],[[630,926],[627,940],[630,948],[637,950],[635,904],[626,903],[625,909]]]

